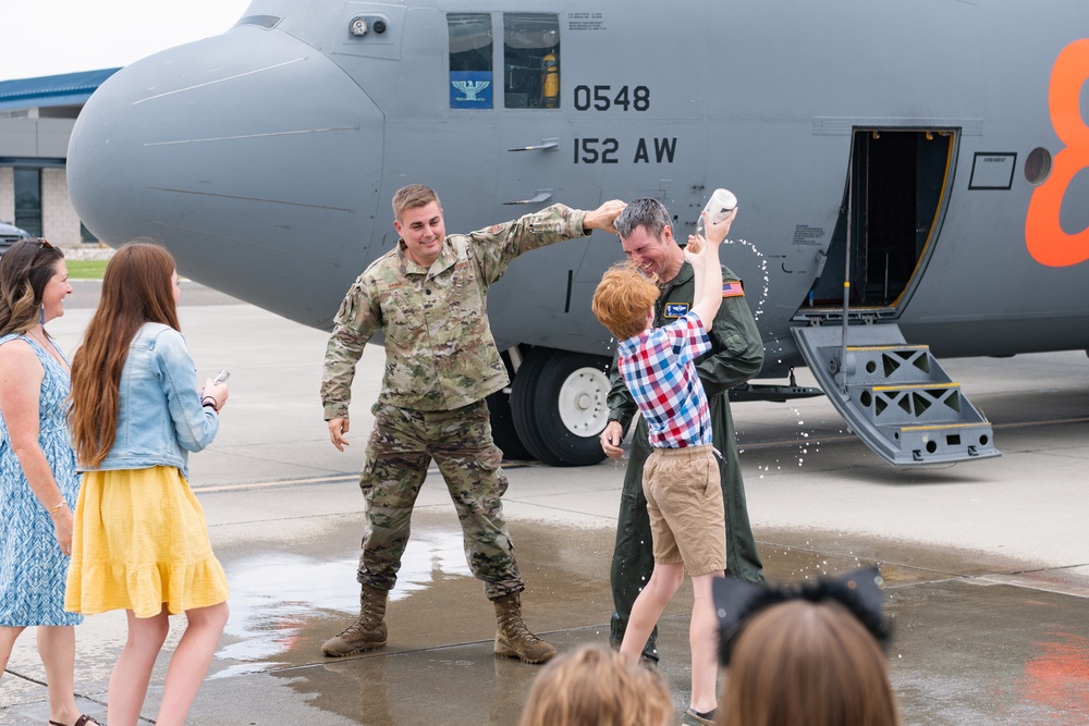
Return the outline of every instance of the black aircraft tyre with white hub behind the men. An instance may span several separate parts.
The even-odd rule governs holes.
[[[582,353],[529,350],[514,377],[510,408],[517,438],[534,457],[550,466],[604,458],[598,434],[609,421],[610,362]]]

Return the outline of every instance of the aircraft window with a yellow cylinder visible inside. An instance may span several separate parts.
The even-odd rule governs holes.
[[[503,95],[509,109],[560,108],[560,19],[503,15]]]

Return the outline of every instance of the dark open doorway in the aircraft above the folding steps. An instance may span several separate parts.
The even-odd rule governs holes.
[[[855,131],[828,259],[805,306],[843,308],[848,247],[852,309],[893,315],[906,302],[941,224],[955,149],[950,130]]]

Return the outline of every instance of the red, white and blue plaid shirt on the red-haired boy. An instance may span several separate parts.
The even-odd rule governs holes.
[[[687,315],[623,341],[619,367],[647,419],[650,445],[683,448],[711,443],[711,415],[695,360],[711,349],[703,323]]]

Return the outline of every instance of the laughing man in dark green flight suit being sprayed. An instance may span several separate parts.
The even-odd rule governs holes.
[[[694,275],[692,266],[685,261],[684,250],[673,237],[665,207],[657,199],[636,199],[616,220],[616,230],[627,258],[647,275],[657,278],[661,294],[654,303],[654,325],[663,325],[685,315],[695,293]],[[760,372],[763,343],[737,275],[723,267],[722,281],[722,307],[709,331],[711,350],[696,359],[696,369],[711,407],[713,445],[721,454],[719,473],[726,514],[726,571],[759,582],[763,579],[763,566],[745,507],[745,485],[726,392]],[[619,458],[623,454],[624,432],[637,408],[616,369],[615,358],[610,381],[609,423],[601,432],[601,448],[605,455]],[[632,605],[654,568],[650,518],[643,493],[643,468],[650,452],[647,423],[640,416],[624,475],[610,573],[615,612],[609,638],[617,648],[624,639]],[[658,629],[654,628],[644,649],[644,659],[658,661],[657,638]]]

